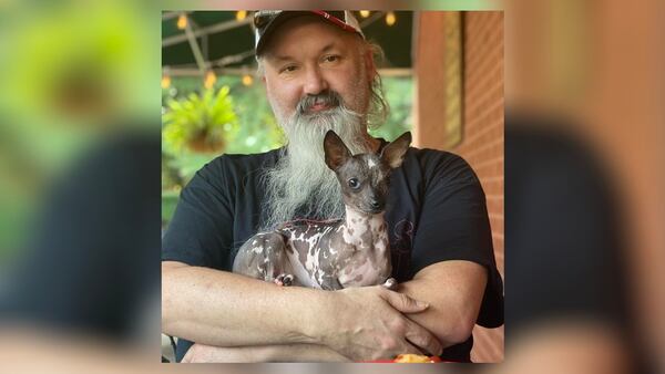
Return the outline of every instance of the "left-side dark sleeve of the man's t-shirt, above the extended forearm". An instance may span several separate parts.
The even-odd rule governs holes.
[[[233,242],[229,185],[224,157],[195,174],[183,188],[162,239],[162,261],[224,268]]]

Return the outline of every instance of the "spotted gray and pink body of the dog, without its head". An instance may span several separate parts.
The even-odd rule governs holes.
[[[324,290],[380,284],[392,271],[383,214],[347,208],[346,220],[258,233],[238,251],[235,270],[269,282],[293,274],[294,285]]]

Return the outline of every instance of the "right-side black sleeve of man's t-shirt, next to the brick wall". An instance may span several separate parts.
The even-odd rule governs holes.
[[[461,157],[448,154],[423,166],[426,185],[413,237],[413,273],[446,260],[468,260],[488,269],[478,323],[503,323],[503,283],[497,270],[485,196]]]

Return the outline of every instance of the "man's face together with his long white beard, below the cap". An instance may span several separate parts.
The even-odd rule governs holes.
[[[332,129],[354,154],[371,150],[365,121],[371,58],[359,35],[316,15],[291,19],[270,37],[264,82],[288,152],[266,170],[264,229],[297,217],[340,218],[341,191],[324,162],[324,137]]]

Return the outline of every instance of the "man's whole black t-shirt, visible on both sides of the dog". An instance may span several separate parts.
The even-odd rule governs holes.
[[[231,271],[239,247],[262,222],[264,170],[282,154],[224,155],[196,173],[162,242],[162,260]],[[497,270],[485,198],[471,167],[459,156],[409,148],[390,178],[386,221],[392,277],[399,282],[429,264],[469,260],[488,269],[478,324],[503,323],[503,283]],[[448,347],[442,357],[469,361],[472,337]],[[191,346],[178,341],[177,361]]]

